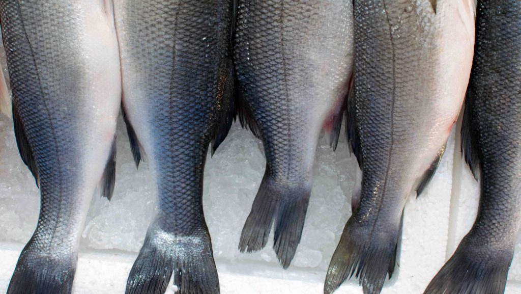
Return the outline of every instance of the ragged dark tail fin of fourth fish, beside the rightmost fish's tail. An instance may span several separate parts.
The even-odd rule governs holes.
[[[395,264],[399,262],[401,228],[397,227],[388,238],[377,240],[371,239],[370,229],[359,226],[353,217],[348,220],[329,264],[325,294],[334,292],[353,276],[363,286],[364,294],[381,292],[383,282],[388,275],[389,278],[392,276]]]

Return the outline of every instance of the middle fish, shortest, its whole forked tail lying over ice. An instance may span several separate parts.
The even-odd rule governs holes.
[[[274,226],[283,268],[302,237],[322,128],[338,144],[353,67],[351,0],[239,0],[238,113],[262,139],[266,169],[239,250],[263,249]]]

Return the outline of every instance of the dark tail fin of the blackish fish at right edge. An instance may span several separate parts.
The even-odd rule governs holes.
[[[465,240],[465,239],[464,239]],[[485,254],[476,253],[465,245],[458,247],[454,255],[432,279],[424,294],[503,294],[513,250]],[[499,256],[504,255],[504,256]]]

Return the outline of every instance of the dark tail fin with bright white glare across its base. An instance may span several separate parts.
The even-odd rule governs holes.
[[[207,230],[201,236],[149,230],[132,266],[125,293],[163,294],[172,274],[178,294],[219,294],[219,278]]]

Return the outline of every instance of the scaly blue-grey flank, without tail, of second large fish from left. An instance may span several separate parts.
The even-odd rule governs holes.
[[[153,150],[145,151],[157,174],[158,219],[174,233],[205,227],[204,158],[223,108],[218,82],[228,74],[223,34],[229,33],[230,20],[220,19],[226,9],[221,1],[131,1],[118,17],[122,59],[129,60],[123,61],[123,75],[137,68],[150,77],[135,87],[147,101]]]

